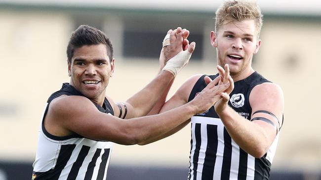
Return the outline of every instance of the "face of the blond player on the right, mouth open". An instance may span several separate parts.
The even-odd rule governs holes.
[[[244,79],[254,70],[252,57],[260,48],[255,20],[227,22],[217,32],[211,31],[211,44],[217,50],[217,63],[229,64],[235,81]]]

